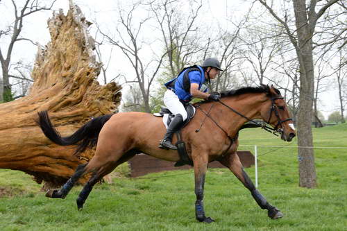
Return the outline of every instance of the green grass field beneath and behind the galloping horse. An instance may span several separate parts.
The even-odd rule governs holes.
[[[240,150],[258,145],[259,187],[269,203],[285,214],[269,219],[251,194],[227,169],[210,169],[205,212],[194,215],[193,171],[154,173],[96,185],[81,212],[74,187],[65,200],[44,197],[31,177],[0,169],[0,230],[347,230],[347,149],[316,148],[319,187],[298,187],[296,140],[282,142],[268,132],[242,131]],[[286,146],[261,147],[262,145]],[[317,147],[346,147],[347,124],[314,128]],[[246,169],[254,180],[254,167]]]

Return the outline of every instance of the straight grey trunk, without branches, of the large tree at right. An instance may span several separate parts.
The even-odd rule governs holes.
[[[313,10],[314,9],[310,9]],[[312,35],[314,25],[307,23],[305,0],[294,0],[296,28],[298,34],[297,54],[300,65],[300,108],[298,110],[298,168],[299,185],[316,187],[316,169],[312,137],[312,106],[314,101],[314,65]]]

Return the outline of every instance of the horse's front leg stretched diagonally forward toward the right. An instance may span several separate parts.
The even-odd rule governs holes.
[[[232,173],[244,184],[244,186],[251,191],[251,194],[257,204],[262,209],[268,210],[268,216],[271,219],[280,219],[283,214],[280,212],[279,209],[276,207],[270,205],[267,200],[260,194],[260,192],[254,187],[252,180],[248,177],[247,173],[244,171],[244,168],[242,167],[242,163],[239,160],[239,156],[237,153],[231,153],[230,155],[227,155],[222,160],[219,160],[221,164],[228,167]]]

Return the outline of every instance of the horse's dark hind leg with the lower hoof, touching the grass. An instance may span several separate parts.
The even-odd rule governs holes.
[[[135,152],[128,152],[124,156],[122,156],[116,163],[110,163],[106,166],[103,166],[98,172],[96,172],[90,180],[85,184],[83,187],[81,193],[78,195],[78,198],[76,199],[78,210],[83,208],[83,204],[85,203],[85,200],[87,200],[90,191],[92,191],[94,185],[96,182],[99,182],[103,176],[106,176],[108,173],[112,172],[113,169],[115,169],[119,164],[122,164],[130,158],[132,158],[136,153]]]

